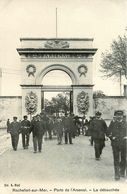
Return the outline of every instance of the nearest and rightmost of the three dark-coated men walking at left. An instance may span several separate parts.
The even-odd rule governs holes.
[[[44,135],[44,124],[43,121],[40,118],[40,115],[36,116],[36,119],[32,121],[30,132],[33,133],[33,146],[34,146],[34,153],[37,153],[38,151],[42,151],[42,139]]]

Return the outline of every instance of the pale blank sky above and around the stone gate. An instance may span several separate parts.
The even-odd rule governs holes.
[[[94,90],[119,95],[119,82],[104,80],[99,65],[101,53],[125,34],[127,0],[0,0],[1,95],[21,95],[19,39],[55,38],[56,7],[58,38],[94,38]]]

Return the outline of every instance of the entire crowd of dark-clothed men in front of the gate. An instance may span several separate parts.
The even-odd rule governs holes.
[[[42,151],[42,141],[44,134],[48,133],[49,139],[53,135],[57,136],[57,144],[73,144],[72,140],[80,133],[90,136],[91,145],[94,144],[95,159],[100,160],[105,140],[111,140],[114,158],[115,180],[127,175],[127,122],[123,111],[115,111],[112,121],[107,127],[106,122],[101,118],[101,113],[96,112],[94,117],[88,121],[85,116],[79,118],[73,114],[66,114],[64,117],[50,118],[46,113],[34,116],[31,122],[25,115],[21,122],[17,117],[13,117],[10,123],[7,121],[7,130],[11,134],[12,147],[16,151],[19,134],[22,134],[23,149],[28,149],[30,133],[33,134],[34,153]]]

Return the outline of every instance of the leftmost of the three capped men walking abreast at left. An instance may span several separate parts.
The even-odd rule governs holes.
[[[13,150],[17,150],[19,134],[20,134],[20,123],[17,121],[17,117],[13,117],[13,121],[10,124],[10,134]]]

